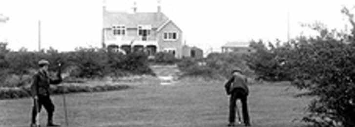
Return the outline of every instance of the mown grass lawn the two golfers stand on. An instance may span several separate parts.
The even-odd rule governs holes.
[[[228,98],[222,82],[158,81],[133,84],[133,89],[67,94],[69,127],[226,127]],[[309,99],[284,83],[251,85],[252,127],[298,127]],[[65,127],[63,98],[52,96],[54,120]],[[0,127],[29,127],[30,98],[0,101]],[[46,124],[42,109],[41,125]],[[243,126],[238,126],[243,127]]]

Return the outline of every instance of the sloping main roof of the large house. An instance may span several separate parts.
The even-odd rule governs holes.
[[[159,18],[158,15],[161,15]],[[158,12],[107,12],[104,11],[104,28],[112,25],[123,24],[126,28],[137,28],[138,25],[152,25],[152,28],[158,28],[169,19],[163,13]]]

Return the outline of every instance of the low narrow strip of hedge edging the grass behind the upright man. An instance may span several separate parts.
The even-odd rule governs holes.
[[[79,93],[79,92],[103,92],[112,90],[123,90],[130,88],[128,85],[62,85],[51,87],[52,94]],[[0,88],[0,100],[3,99],[18,99],[30,97],[30,87],[11,87]]]

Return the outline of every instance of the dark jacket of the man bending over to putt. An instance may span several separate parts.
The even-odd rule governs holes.
[[[227,94],[230,94],[235,88],[242,88],[247,95],[249,94],[249,88],[247,85],[247,78],[243,75],[233,75],[230,80],[224,86]]]

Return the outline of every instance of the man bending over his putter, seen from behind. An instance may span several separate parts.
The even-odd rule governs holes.
[[[225,84],[227,95],[230,95],[230,114],[228,127],[235,126],[235,107],[236,100],[240,99],[242,102],[242,114],[245,126],[250,126],[250,118],[248,113],[247,97],[249,88],[247,85],[247,78],[243,75],[240,68],[235,68],[232,71],[232,77]]]

